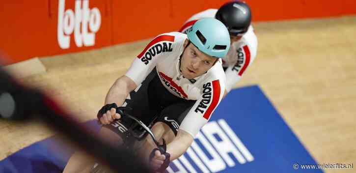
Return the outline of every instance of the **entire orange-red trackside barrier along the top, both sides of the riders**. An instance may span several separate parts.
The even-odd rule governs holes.
[[[252,20],[355,15],[356,0],[246,0]],[[12,0],[0,7],[0,52],[14,63],[178,30],[192,14],[226,0]]]

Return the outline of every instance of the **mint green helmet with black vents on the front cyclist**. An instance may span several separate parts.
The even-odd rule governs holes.
[[[189,41],[201,52],[215,58],[224,58],[230,48],[230,35],[225,25],[214,18],[196,21],[187,30]]]

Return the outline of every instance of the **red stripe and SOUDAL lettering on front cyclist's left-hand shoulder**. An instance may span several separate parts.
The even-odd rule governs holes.
[[[152,58],[163,52],[172,52],[172,43],[174,42],[174,36],[172,35],[160,35],[153,39],[146,48],[137,56],[146,65],[150,62]]]

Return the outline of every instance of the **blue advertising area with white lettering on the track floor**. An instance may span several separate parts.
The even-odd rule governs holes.
[[[95,121],[87,122],[99,128]],[[61,173],[73,148],[56,137],[0,161],[1,173]],[[233,89],[200,130],[187,152],[166,173],[322,173],[296,164],[317,164],[258,86]]]

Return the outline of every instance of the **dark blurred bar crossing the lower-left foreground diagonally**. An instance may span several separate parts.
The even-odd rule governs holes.
[[[18,84],[0,68],[0,116],[21,123],[38,117],[49,127],[65,134],[92,156],[116,172],[149,173],[139,158],[118,146],[103,142],[79,121],[62,110],[54,100],[33,88]]]

